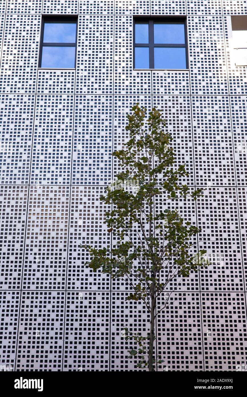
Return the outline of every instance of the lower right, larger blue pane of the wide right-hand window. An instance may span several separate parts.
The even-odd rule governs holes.
[[[186,69],[185,48],[155,47],[155,69]]]

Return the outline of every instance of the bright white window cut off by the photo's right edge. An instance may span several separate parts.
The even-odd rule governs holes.
[[[234,15],[232,18],[232,40],[236,66],[247,65],[247,15]]]

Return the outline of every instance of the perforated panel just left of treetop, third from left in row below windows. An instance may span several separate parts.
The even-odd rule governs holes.
[[[72,183],[111,182],[113,96],[75,96]]]

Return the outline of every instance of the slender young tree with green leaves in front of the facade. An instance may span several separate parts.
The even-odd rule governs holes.
[[[116,244],[113,249],[80,247],[90,252],[92,260],[88,266],[94,272],[101,269],[113,279],[125,279],[132,289],[127,299],[144,301],[150,316],[149,334],[144,337],[126,328],[122,336],[133,338],[139,345],[138,351],[129,351],[130,357],[139,358],[138,367],[154,371],[163,362],[155,360],[153,354],[155,318],[169,301],[157,308],[157,298],[167,293],[174,278],[188,277],[191,271],[209,263],[204,258],[205,250],[196,255],[190,252],[194,245],[191,237],[199,233],[199,229],[190,222],[184,223],[177,210],[167,208],[168,201],[180,197],[196,200],[202,196],[202,190],[191,193],[187,185],[180,184],[180,178],[188,173],[184,165],[174,170],[174,150],[171,137],[165,132],[165,120],[161,112],[153,108],[145,123],[146,111],[136,104],[133,113],[127,116],[130,140],[122,150],[113,153],[123,171],[100,198],[112,206],[106,213],[106,223]],[[163,210],[157,210],[160,197]],[[137,238],[133,239],[133,235]],[[162,271],[165,277],[161,276]],[[169,298],[171,293],[168,295]]]

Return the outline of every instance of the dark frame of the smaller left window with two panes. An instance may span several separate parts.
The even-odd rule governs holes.
[[[44,43],[44,24],[45,23],[76,23],[76,33],[74,43]],[[40,54],[38,65],[42,69],[75,69],[77,58],[77,30],[78,30],[78,15],[42,15],[41,35],[40,35]],[[42,67],[42,51],[43,47],[75,47],[75,64],[74,67]]]

